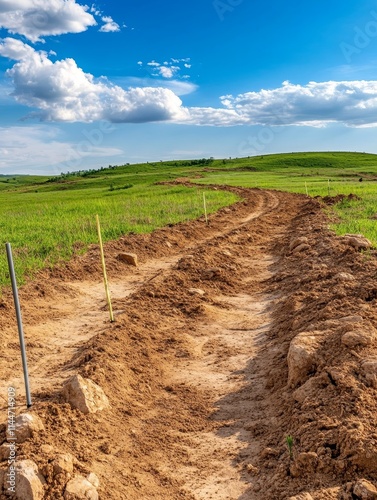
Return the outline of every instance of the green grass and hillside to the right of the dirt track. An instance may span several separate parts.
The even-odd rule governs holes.
[[[332,209],[337,234],[361,233],[377,246],[377,155],[365,153],[292,153],[228,161],[206,172],[202,184],[278,189],[309,196],[355,194]],[[360,182],[360,179],[363,179]]]

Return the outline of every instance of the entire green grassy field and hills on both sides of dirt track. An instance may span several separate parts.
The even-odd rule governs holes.
[[[213,183],[310,196],[353,193],[361,199],[334,208],[341,218],[334,227],[340,234],[363,233],[377,245],[377,155],[292,153],[124,165],[55,178],[0,176],[1,243],[12,244],[18,280],[96,242],[97,213],[104,240],[203,215],[200,189],[155,185],[176,178],[203,184],[209,213],[236,201],[230,193],[206,189]],[[8,282],[3,251],[0,286]]]

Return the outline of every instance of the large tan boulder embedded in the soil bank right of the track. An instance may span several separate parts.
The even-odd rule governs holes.
[[[291,342],[288,351],[288,385],[292,388],[306,381],[307,375],[315,369],[316,353],[325,332],[299,333]]]

